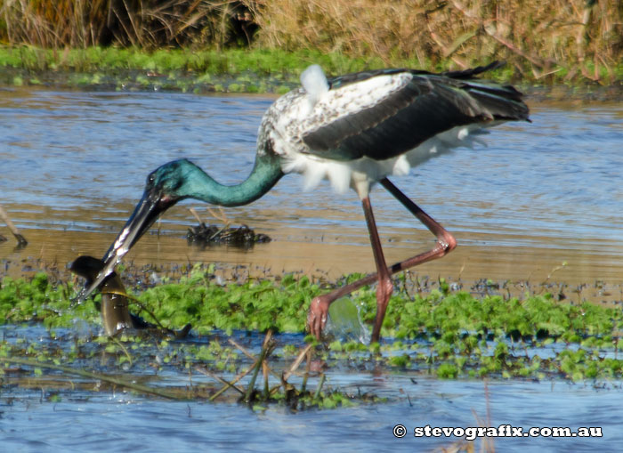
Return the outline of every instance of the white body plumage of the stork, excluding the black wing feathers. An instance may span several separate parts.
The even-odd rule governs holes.
[[[328,81],[319,66],[312,66],[301,76],[302,87],[275,101],[263,117],[258,134],[258,152],[264,152],[266,141],[282,157],[284,173],[303,174],[303,188],[310,190],[323,179],[334,190],[343,193],[349,187],[360,198],[368,196],[370,186],[384,177],[409,174],[434,156],[459,146],[480,142],[484,128],[498,124],[487,121],[459,125],[421,142],[412,150],[386,159],[361,157],[352,160],[323,158],[303,141],[307,133],[363,110],[373,109],[409,85],[413,74],[400,72],[370,77],[360,82],[329,90]],[[379,118],[379,122],[385,118]]]

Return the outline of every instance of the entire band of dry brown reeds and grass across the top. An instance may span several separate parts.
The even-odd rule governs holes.
[[[623,78],[621,0],[0,0],[0,42],[262,48],[421,69],[506,60],[528,79]]]

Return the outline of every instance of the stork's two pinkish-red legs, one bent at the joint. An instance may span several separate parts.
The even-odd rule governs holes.
[[[366,222],[368,223],[368,231],[370,233],[370,241],[372,243],[372,251],[375,256],[376,273],[369,274],[363,279],[359,279],[344,287],[339,287],[336,290],[326,294],[314,297],[310,306],[310,311],[307,316],[307,325],[312,333],[320,339],[322,329],[327,324],[328,307],[331,303],[352,293],[352,291],[359,289],[365,285],[370,285],[375,281],[379,282],[376,288],[376,318],[374,328],[372,331],[372,341],[378,341],[381,332],[381,326],[383,325],[383,319],[385,316],[385,310],[387,309],[387,303],[389,297],[392,295],[392,280],[390,276],[400,271],[404,271],[417,264],[426,263],[435,258],[441,258],[441,256],[449,254],[455,247],[457,247],[457,239],[436,222],[433,217],[426,214],[419,206],[411,201],[405,194],[401,192],[396,186],[392,184],[387,178],[381,180],[383,187],[398,199],[403,206],[405,206],[411,214],[417,217],[417,220],[424,223],[425,227],[431,231],[437,238],[437,244],[431,250],[421,253],[419,255],[412,256],[401,263],[395,263],[391,267],[387,267],[384,262],[383,249],[381,247],[381,241],[378,238],[378,232],[376,231],[376,223],[374,222],[374,215],[372,214],[372,208],[368,198],[365,198],[363,203],[364,214],[366,215]]]

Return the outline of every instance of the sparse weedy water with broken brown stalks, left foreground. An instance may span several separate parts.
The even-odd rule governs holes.
[[[0,330],[4,398],[35,391],[57,402],[74,392],[134,392],[166,400],[238,401],[253,409],[280,404],[290,410],[384,400],[328,384],[312,344],[300,337],[275,338],[271,331],[179,342],[135,330],[117,336],[85,329],[45,332],[40,326]]]

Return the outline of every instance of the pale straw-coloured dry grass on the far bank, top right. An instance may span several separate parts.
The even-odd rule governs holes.
[[[247,0],[257,42],[374,55],[388,66],[466,68],[506,60],[522,76],[617,77],[619,0]]]

